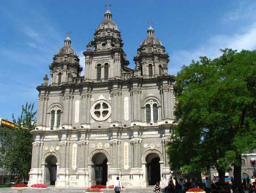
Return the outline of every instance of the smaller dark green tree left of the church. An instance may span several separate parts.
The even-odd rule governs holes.
[[[32,135],[35,128],[34,104],[22,106],[22,113],[15,120],[16,127],[4,126],[0,129],[1,163],[8,175],[17,175],[17,179],[27,179],[31,168]]]

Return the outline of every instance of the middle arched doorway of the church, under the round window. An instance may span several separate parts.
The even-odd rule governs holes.
[[[93,183],[106,185],[108,181],[108,159],[105,154],[99,153],[95,154],[91,161],[92,165],[92,173],[91,175]]]

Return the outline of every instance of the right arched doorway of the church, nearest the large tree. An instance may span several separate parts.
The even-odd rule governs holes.
[[[146,156],[148,185],[154,185],[161,181],[159,161],[160,158],[157,154],[148,154],[148,156]]]

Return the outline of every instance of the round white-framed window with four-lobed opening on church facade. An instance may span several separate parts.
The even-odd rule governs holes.
[[[110,103],[105,100],[100,100],[94,103],[91,107],[91,116],[96,121],[105,121],[111,115]]]

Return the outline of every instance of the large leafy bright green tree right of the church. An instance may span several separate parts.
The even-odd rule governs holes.
[[[234,165],[241,184],[241,154],[256,147],[256,52],[222,50],[178,72],[176,123],[168,144],[170,167],[201,172],[215,167],[220,181]]]

